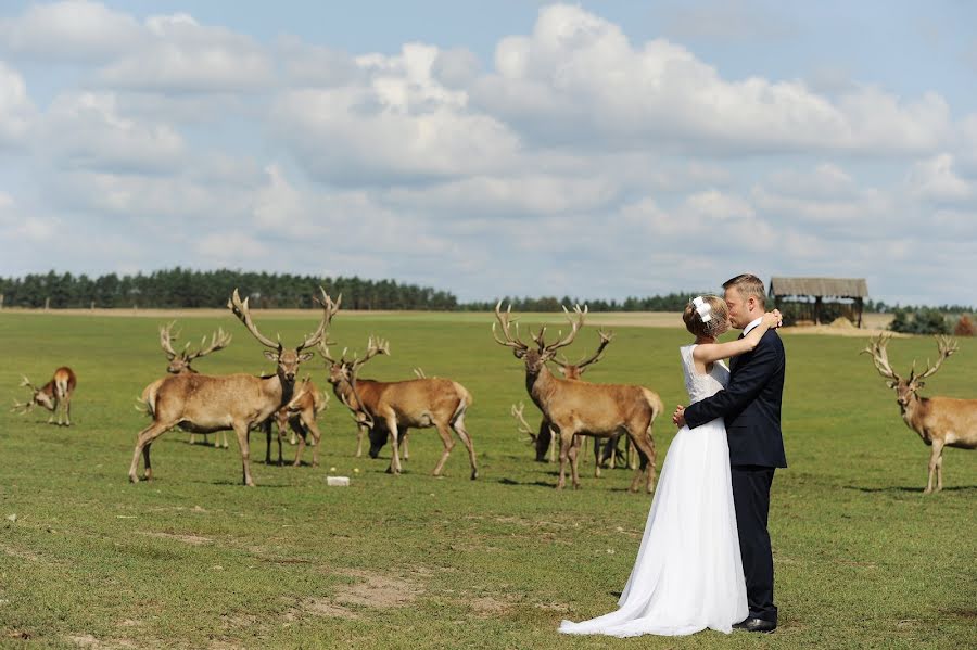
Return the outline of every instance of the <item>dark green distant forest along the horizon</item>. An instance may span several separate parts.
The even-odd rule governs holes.
[[[322,286],[333,297],[343,294],[347,309],[407,309],[432,311],[486,311],[496,301],[459,303],[447,291],[395,280],[318,278],[291,273],[245,272],[220,269],[195,271],[174,268],[149,275],[109,273],[90,278],[72,273],[33,273],[23,278],[0,278],[0,307],[63,308],[221,308],[238,289],[250,296],[255,308],[308,309]],[[517,311],[559,311],[562,305],[587,305],[591,311],[681,311],[698,293],[670,293],[647,297],[581,299],[570,296],[503,297]],[[898,307],[898,305],[896,305]],[[884,302],[866,301],[865,311],[891,311]],[[911,307],[908,307],[911,308]],[[943,311],[970,311],[970,307],[944,305]]]

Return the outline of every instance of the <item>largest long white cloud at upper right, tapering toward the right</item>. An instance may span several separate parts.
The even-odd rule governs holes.
[[[578,7],[542,9],[532,36],[499,41],[495,66],[472,86],[472,105],[549,143],[880,155],[926,150],[949,132],[938,95],[900,102],[863,88],[835,104],[799,81],[728,81],[678,44],[634,48]]]

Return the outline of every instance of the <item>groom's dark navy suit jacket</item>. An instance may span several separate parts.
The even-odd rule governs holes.
[[[725,390],[685,409],[685,422],[695,429],[723,418],[731,464],[786,468],[781,434],[786,366],[784,343],[767,330],[752,352],[733,357]]]

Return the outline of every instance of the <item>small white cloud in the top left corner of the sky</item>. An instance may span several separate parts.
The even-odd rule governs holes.
[[[0,47],[45,61],[79,63],[112,58],[140,41],[142,27],[98,2],[68,0],[27,7],[0,18]]]

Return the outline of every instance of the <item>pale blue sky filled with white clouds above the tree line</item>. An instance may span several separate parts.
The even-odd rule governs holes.
[[[0,3],[0,276],[977,305],[977,5]]]

